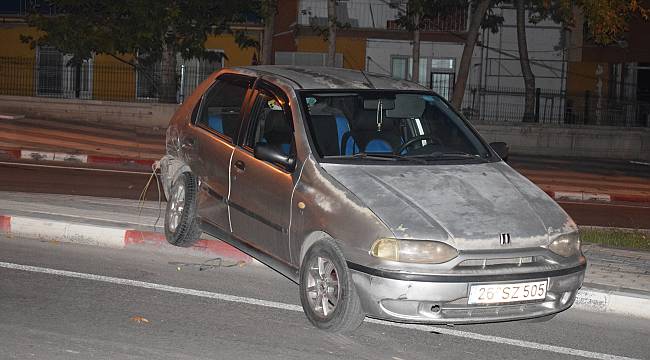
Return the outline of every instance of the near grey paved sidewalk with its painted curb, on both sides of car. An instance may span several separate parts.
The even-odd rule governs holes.
[[[162,235],[165,204],[76,195],[0,192],[0,231],[10,236],[129,249],[183,251]],[[187,250],[185,250],[187,251]],[[189,251],[238,263],[253,260],[214,238]],[[650,319],[650,252],[585,245],[589,266],[575,307]]]

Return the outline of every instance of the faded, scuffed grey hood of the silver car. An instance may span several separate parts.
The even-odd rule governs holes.
[[[459,250],[548,245],[576,231],[543,191],[503,162],[465,165],[321,164],[401,239],[445,241]]]

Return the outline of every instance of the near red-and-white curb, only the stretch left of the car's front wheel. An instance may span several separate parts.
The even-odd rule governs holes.
[[[13,236],[28,236],[44,240],[118,249],[140,245],[175,248],[167,243],[163,234],[153,231],[79,224],[24,216],[0,215],[0,232]],[[228,260],[252,262],[250,256],[219,240],[202,239],[190,249],[207,252]]]

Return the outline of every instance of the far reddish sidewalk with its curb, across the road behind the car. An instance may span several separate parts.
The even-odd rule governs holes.
[[[138,166],[165,152],[164,129],[0,118],[0,160]],[[510,165],[556,200],[650,203],[650,165],[510,156]]]

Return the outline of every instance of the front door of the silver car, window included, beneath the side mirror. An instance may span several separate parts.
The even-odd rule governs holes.
[[[230,211],[233,234],[269,255],[289,262],[289,216],[294,172],[255,158],[263,142],[295,156],[287,96],[259,80],[249,121],[231,165]]]

